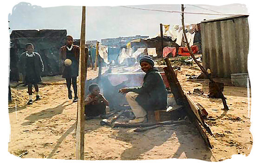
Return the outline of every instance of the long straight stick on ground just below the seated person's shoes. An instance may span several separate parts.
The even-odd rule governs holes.
[[[156,122],[156,123],[137,123],[137,124],[127,124],[127,123],[117,123],[115,122],[112,127],[124,127],[124,128],[134,128],[134,127],[149,127],[153,125],[172,125],[172,124],[186,124],[188,123],[185,120],[169,120],[164,122]]]

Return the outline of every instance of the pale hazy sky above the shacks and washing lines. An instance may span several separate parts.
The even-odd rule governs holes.
[[[140,5],[146,9],[181,11],[181,5]],[[185,12],[248,14],[242,4],[224,6],[185,5]],[[20,29],[67,29],[67,34],[80,38],[81,6],[40,7],[36,4],[21,2],[13,6],[8,15],[11,30]],[[159,33],[159,24],[181,24],[180,13],[143,11],[121,6],[87,7],[86,39],[127,37],[135,35],[155,36]],[[215,12],[214,12],[215,11]],[[185,24],[194,24],[203,19],[228,17],[225,15],[185,14]],[[10,30],[10,31],[11,31]]]

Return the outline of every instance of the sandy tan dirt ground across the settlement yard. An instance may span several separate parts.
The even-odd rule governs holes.
[[[197,66],[182,65],[178,79],[186,93],[200,88],[208,94],[208,80],[191,80],[186,75],[199,75]],[[98,71],[88,70],[88,78]],[[23,158],[75,159],[75,121],[77,103],[67,98],[65,81],[60,76],[44,77],[43,81],[59,83],[40,86],[40,101],[27,106],[27,87],[12,88],[9,104],[11,134],[9,152],[15,156],[28,151]],[[215,137],[209,136],[212,150],[206,146],[190,124],[164,126],[146,132],[134,129],[101,126],[100,119],[85,123],[85,160],[144,160],[195,158],[222,161],[234,154],[248,156],[252,147],[250,128],[251,98],[247,88],[232,87],[228,80],[224,95],[230,110],[222,111],[222,100],[190,94],[209,113],[206,120]],[[12,84],[14,86],[15,84]],[[35,99],[35,94],[34,94]],[[16,106],[16,107],[15,107]]]

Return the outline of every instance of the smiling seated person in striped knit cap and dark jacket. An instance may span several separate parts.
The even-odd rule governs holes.
[[[167,90],[162,76],[154,67],[150,56],[140,59],[141,70],[146,73],[143,84],[137,88],[122,88],[119,93],[126,94],[126,100],[131,107],[135,119],[129,123],[143,123],[147,121],[147,111],[165,110],[167,107]]]

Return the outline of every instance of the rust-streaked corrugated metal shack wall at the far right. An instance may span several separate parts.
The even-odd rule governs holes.
[[[248,16],[201,22],[202,64],[213,77],[248,73]]]

